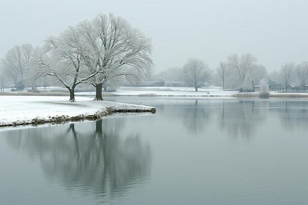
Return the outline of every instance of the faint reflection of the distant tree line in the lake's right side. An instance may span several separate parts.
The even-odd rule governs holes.
[[[260,125],[277,118],[285,130],[308,130],[308,102],[292,100],[165,100],[156,107],[156,116],[165,123],[179,121],[187,135],[209,134],[218,126],[229,137],[249,139],[256,136]]]

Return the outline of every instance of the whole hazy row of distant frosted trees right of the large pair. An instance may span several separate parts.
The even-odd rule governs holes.
[[[308,83],[308,62],[298,65],[285,62],[279,71],[268,74],[265,66],[259,64],[257,58],[250,53],[231,54],[227,61],[219,62],[215,70],[211,70],[201,59],[188,59],[183,68],[162,71],[156,75],[156,79],[182,81],[185,86],[194,87],[195,91],[206,85],[219,85],[223,90],[253,91],[254,85],[259,85],[261,80],[280,84],[280,88],[286,91],[289,84],[298,85],[305,90]]]

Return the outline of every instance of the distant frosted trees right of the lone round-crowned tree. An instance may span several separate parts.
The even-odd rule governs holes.
[[[260,80],[269,83],[281,84],[281,88],[287,91],[288,85],[298,85],[305,91],[308,83],[308,62],[304,61],[296,65],[294,62],[285,62],[278,71],[268,74],[266,68],[257,64],[257,59],[251,54],[243,54],[240,57],[232,54],[227,62],[220,62],[216,68],[216,75],[219,77],[222,88],[251,89],[252,81],[256,85]]]

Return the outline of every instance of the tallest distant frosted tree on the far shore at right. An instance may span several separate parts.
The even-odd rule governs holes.
[[[228,65],[234,71],[235,78],[238,79],[238,88],[243,89],[244,81],[251,79],[256,73],[256,62],[257,58],[252,56],[250,53],[242,54],[231,54],[228,56]]]

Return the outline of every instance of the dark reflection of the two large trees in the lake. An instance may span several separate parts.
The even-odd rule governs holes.
[[[10,146],[38,158],[48,180],[67,191],[99,201],[121,198],[142,185],[151,171],[151,149],[138,134],[120,136],[123,120],[105,118],[86,124],[16,130]]]

